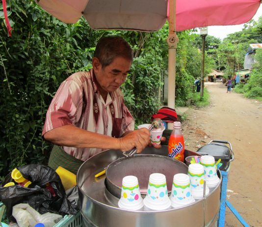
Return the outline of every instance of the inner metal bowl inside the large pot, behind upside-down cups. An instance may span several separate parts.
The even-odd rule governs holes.
[[[173,177],[177,173],[187,174],[188,167],[177,160],[160,155],[134,155],[120,158],[109,164],[106,170],[106,188],[115,197],[121,198],[122,179],[133,175],[138,178],[141,195],[146,195],[149,176],[158,172],[166,176],[167,190],[171,193]]]

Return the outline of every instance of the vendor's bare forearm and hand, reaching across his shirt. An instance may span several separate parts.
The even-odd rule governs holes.
[[[89,132],[74,125],[64,125],[46,132],[43,136],[47,141],[62,146],[120,149],[121,151],[136,147],[137,153],[140,153],[149,143],[150,133],[147,129],[139,129],[125,133],[122,138],[113,138]]]

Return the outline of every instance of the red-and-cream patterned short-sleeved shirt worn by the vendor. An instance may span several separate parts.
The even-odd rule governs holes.
[[[118,88],[109,92],[105,102],[97,84],[93,69],[68,77],[52,99],[42,135],[64,125],[75,125],[90,132],[116,138],[134,130],[134,119],[124,104],[121,90]],[[99,148],[62,148],[82,161],[103,151]]]

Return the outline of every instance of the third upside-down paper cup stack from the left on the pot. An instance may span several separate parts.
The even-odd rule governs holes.
[[[174,208],[195,202],[190,188],[190,178],[184,173],[177,173],[173,178],[171,206]]]

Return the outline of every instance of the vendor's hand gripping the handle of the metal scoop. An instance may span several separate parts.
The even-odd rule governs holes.
[[[150,132],[146,128],[134,130],[120,140],[120,150],[128,151],[137,148],[137,153],[141,153],[142,150],[150,143]]]

